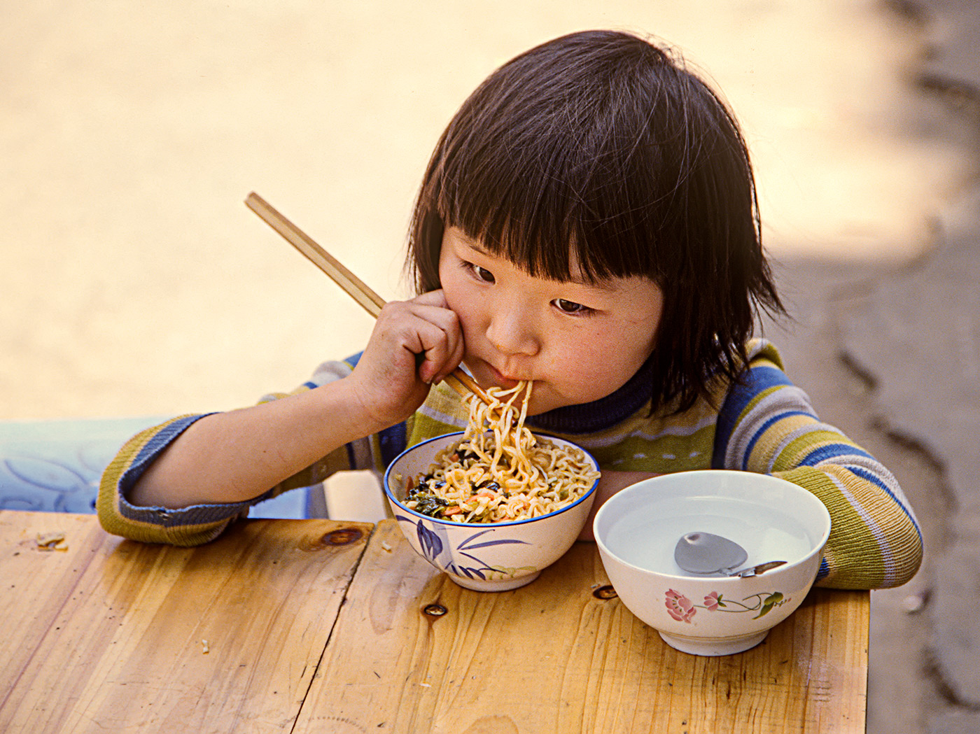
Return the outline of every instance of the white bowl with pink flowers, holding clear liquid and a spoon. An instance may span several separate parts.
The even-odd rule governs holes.
[[[807,596],[830,535],[830,514],[806,489],[766,474],[706,469],[664,474],[613,495],[593,531],[616,594],[672,648],[731,655],[758,645]],[[706,531],[749,554],[742,567],[785,561],[758,576],[690,573],[677,540]]]

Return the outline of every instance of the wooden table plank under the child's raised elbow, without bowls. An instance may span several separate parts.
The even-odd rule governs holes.
[[[180,549],[0,512],[0,731],[288,730],[370,530],[250,520]]]

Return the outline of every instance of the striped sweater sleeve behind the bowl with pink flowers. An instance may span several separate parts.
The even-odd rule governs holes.
[[[757,345],[744,380],[721,408],[713,464],[779,476],[823,502],[832,524],[818,586],[889,588],[918,570],[922,534],[898,481],[820,421],[767,342]]]

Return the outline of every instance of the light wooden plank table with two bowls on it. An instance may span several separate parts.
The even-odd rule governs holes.
[[[478,593],[390,520],[179,549],[0,512],[0,732],[864,731],[867,592],[814,590],[759,647],[702,658],[608,584],[587,543]]]

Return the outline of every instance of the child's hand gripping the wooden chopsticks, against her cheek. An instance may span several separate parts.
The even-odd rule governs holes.
[[[460,321],[437,290],[386,304],[347,379],[380,430],[411,416],[463,356]]]

